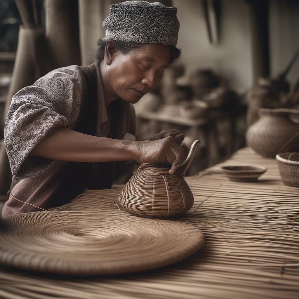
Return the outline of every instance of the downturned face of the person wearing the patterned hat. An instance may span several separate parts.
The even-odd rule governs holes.
[[[109,80],[115,94],[129,103],[137,103],[161,81],[169,65],[171,50],[164,45],[144,44],[122,54],[113,54]]]

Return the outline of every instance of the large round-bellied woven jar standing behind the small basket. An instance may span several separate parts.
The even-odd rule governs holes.
[[[260,119],[249,127],[249,147],[264,157],[274,158],[280,152],[299,151],[299,124],[289,116],[293,109],[260,109]]]

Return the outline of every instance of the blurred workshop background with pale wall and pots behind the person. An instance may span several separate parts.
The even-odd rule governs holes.
[[[0,194],[11,173],[3,145],[10,100],[66,65],[95,61],[112,0],[0,0]],[[155,2],[155,1],[150,1]],[[137,139],[178,129],[202,139],[188,175],[245,146],[264,108],[299,105],[299,1],[169,0],[178,8],[181,58],[135,105]]]

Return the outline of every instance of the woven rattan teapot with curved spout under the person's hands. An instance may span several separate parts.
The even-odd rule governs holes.
[[[123,208],[132,215],[149,218],[181,216],[190,210],[194,198],[184,175],[200,142],[193,142],[176,175],[168,173],[169,165],[141,164],[119,194],[118,199]]]

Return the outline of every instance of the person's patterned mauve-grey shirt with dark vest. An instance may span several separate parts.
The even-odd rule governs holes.
[[[4,129],[13,181],[3,217],[64,205],[86,188],[111,187],[119,163],[56,161],[29,155],[61,126],[123,139],[127,132],[135,134],[135,112],[132,104],[120,99],[106,108],[97,62],[59,68],[17,92]]]

